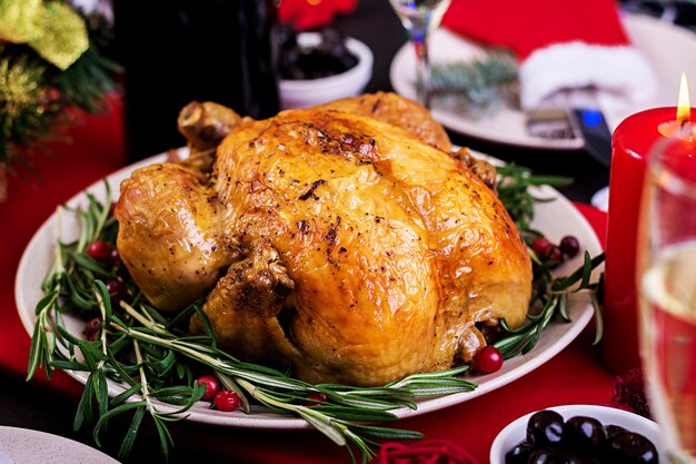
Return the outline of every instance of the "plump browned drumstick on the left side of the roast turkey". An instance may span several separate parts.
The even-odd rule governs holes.
[[[123,264],[162,310],[205,296],[238,255],[208,176],[187,164],[136,170],[121,184],[115,216]]]

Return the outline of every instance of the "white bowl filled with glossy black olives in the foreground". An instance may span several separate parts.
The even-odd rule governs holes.
[[[659,427],[608,406],[568,405],[537,411],[506,426],[490,447],[490,464],[665,464]]]

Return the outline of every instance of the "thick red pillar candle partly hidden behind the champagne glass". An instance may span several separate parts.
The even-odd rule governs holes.
[[[677,108],[655,108],[626,118],[614,131],[601,352],[616,374],[640,366],[636,289],[636,240],[647,156],[677,126]]]

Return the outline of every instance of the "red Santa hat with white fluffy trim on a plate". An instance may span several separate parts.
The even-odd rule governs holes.
[[[657,80],[632,47],[614,0],[454,0],[443,24],[518,57],[520,105],[537,107],[560,89],[596,87],[629,105],[649,101]]]

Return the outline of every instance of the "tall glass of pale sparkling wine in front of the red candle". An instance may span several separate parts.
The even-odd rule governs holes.
[[[640,352],[672,463],[696,463],[696,131],[648,158],[639,231]]]

